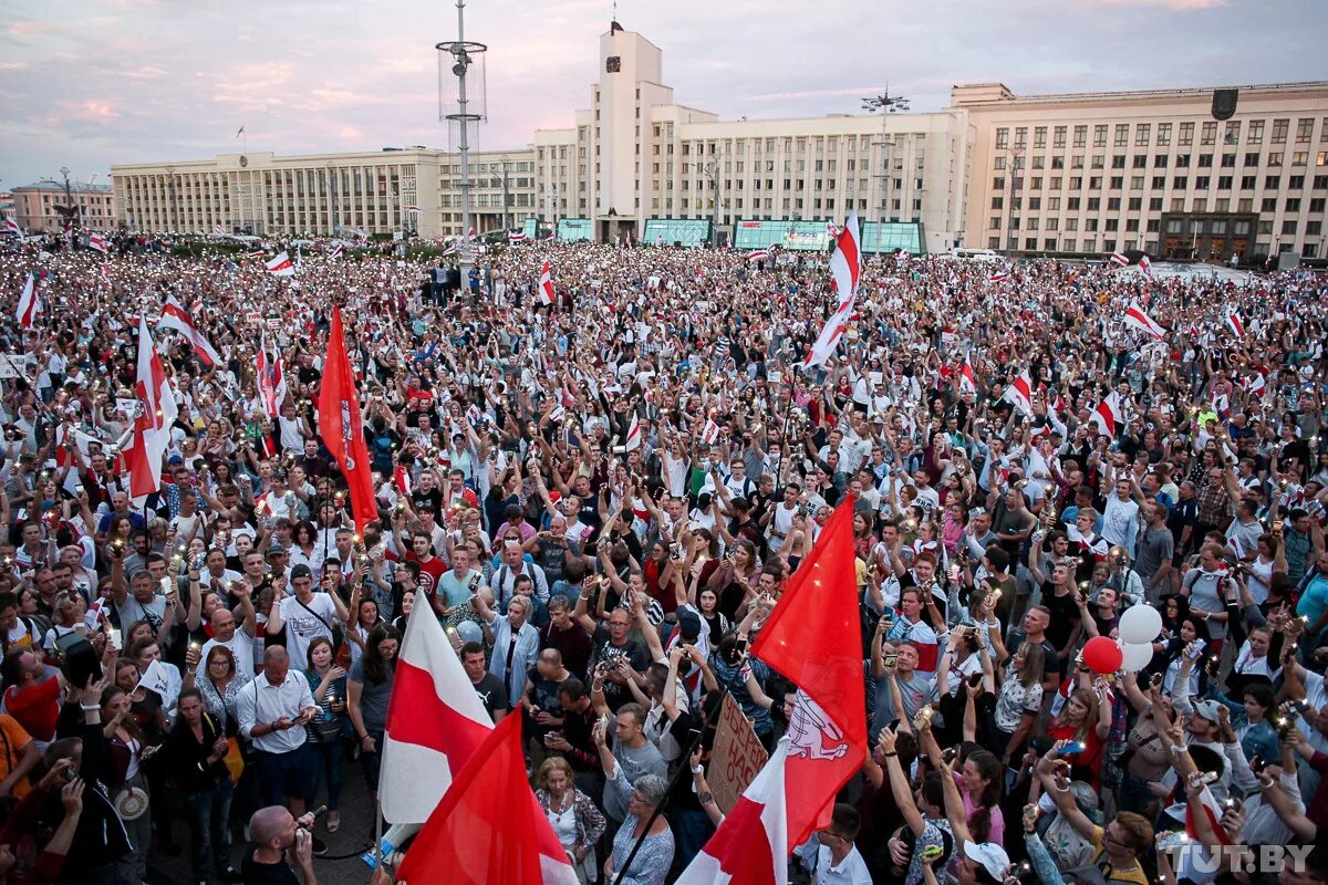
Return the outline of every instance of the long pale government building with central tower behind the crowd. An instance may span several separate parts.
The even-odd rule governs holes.
[[[478,232],[823,249],[826,222],[855,210],[867,252],[1324,256],[1328,82],[956,85],[934,113],[725,121],[675,100],[641,34],[615,24],[598,52],[588,107],[567,127],[471,151]],[[112,179],[133,231],[463,232],[458,157],[420,146],[130,163]]]

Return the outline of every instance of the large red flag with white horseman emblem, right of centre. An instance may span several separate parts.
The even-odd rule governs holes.
[[[867,756],[853,504],[849,495],[835,508],[752,645],[799,690],[785,766],[789,845],[829,820],[835,793]]]

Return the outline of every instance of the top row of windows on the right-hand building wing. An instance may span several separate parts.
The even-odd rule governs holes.
[[[1222,134],[1223,145],[1239,145],[1240,143],[1240,127],[1247,121],[1228,119],[1226,121],[1226,129]],[[1289,117],[1279,117],[1272,121],[1251,119],[1248,121],[1250,127],[1246,130],[1246,143],[1247,145],[1262,145],[1264,139],[1264,133],[1268,134],[1268,143],[1271,145],[1286,145],[1287,139],[1291,137],[1292,125],[1295,126],[1295,143],[1308,145],[1313,141],[1315,133],[1315,118],[1313,117],[1299,117],[1292,122]],[[1108,134],[1114,126],[1114,145],[1116,147],[1125,147],[1130,143],[1130,126],[1131,123],[1094,123],[1093,125],[1093,147],[1106,147]],[[1175,131],[1177,145],[1181,147],[1187,147],[1194,143],[1194,130],[1195,123],[1182,122],[1182,123],[1133,123],[1134,126],[1134,146],[1147,147],[1155,145],[1157,147],[1167,147],[1171,145],[1171,134]],[[1174,127],[1174,129],[1173,129]],[[1028,147],[1028,126],[1015,126],[1015,150],[1023,150]],[[1046,147],[1046,135],[1050,131],[1052,147],[1065,147],[1066,137],[1069,135],[1070,126],[1033,126],[1033,149],[1038,150]],[[1088,147],[1088,130],[1086,123],[1080,123],[1073,127],[1073,146],[1074,147]],[[1155,137],[1154,137],[1155,133]],[[1008,150],[1011,146],[1011,127],[1000,126],[996,129],[996,150]],[[1328,117],[1323,118],[1323,125],[1319,129],[1319,141],[1328,142]],[[1201,145],[1216,145],[1218,143],[1218,121],[1204,121],[1202,129],[1199,130],[1199,143]]]

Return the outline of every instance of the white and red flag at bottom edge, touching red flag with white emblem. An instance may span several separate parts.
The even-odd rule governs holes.
[[[788,738],[757,772],[733,811],[688,864],[677,885],[785,885],[789,881]]]

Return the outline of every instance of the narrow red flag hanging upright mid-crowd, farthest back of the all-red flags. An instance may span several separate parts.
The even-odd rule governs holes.
[[[345,476],[351,488],[355,527],[364,532],[364,527],[378,517],[378,511],[373,502],[369,447],[364,442],[364,425],[360,422],[355,373],[351,372],[351,358],[345,353],[341,308],[332,308],[328,357],[319,390],[319,435]]]

